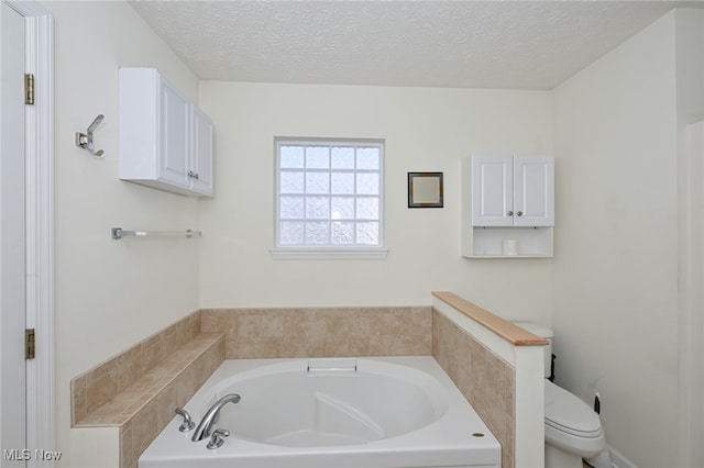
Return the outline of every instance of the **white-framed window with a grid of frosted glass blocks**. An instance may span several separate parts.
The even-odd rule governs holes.
[[[274,255],[383,256],[384,143],[276,138]]]

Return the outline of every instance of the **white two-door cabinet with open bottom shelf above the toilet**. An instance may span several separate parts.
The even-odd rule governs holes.
[[[552,156],[472,155],[462,160],[462,255],[551,257]]]

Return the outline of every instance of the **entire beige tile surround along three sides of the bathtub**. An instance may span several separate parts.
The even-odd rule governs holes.
[[[222,359],[394,355],[432,355],[515,466],[513,367],[431,307],[204,309],[73,379],[72,424],[119,426],[120,468],[136,468]]]

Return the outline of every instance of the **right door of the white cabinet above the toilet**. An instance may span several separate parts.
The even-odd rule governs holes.
[[[554,225],[552,156],[514,157],[514,225]]]

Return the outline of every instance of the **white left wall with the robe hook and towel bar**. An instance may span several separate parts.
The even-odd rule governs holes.
[[[69,381],[198,309],[197,241],[112,241],[110,227],[198,227],[195,199],[118,179],[118,69],[198,80],[124,2],[46,2],[55,16],[57,449],[72,466]],[[102,158],[74,144],[98,114]],[[85,447],[76,447],[81,450]]]

